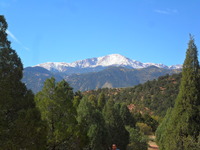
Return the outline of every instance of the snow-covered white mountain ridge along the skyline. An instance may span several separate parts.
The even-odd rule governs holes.
[[[88,69],[95,71],[96,68],[105,68],[109,66],[123,66],[128,68],[147,68],[149,66],[156,66],[164,69],[180,69],[182,65],[166,66],[164,64],[156,63],[142,63],[136,60],[131,60],[120,54],[111,54],[103,57],[89,58],[85,60],[79,60],[72,63],[64,62],[47,62],[43,64],[36,65],[43,67],[49,71],[55,72],[67,72],[74,69]]]

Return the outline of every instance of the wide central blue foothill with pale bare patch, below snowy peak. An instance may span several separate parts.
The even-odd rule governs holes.
[[[110,67],[99,72],[67,76],[65,79],[75,91],[88,91],[98,88],[132,87],[166,74],[179,72],[180,70],[169,70],[155,66],[143,69]]]

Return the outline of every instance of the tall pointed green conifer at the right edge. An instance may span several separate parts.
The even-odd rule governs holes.
[[[198,149],[200,134],[200,76],[197,47],[190,36],[186,59],[183,64],[180,91],[166,123],[163,149]],[[168,116],[169,117],[169,116]]]

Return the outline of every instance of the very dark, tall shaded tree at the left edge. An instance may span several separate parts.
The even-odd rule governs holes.
[[[6,20],[0,15],[0,148],[43,149],[45,125],[34,95],[21,82],[23,65],[6,30]]]

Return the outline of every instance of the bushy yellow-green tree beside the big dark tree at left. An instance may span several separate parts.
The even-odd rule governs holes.
[[[73,91],[66,81],[56,83],[55,78],[47,79],[42,91],[35,98],[42,119],[47,122],[47,148],[73,149],[78,146],[79,132],[76,110],[73,107]]]

